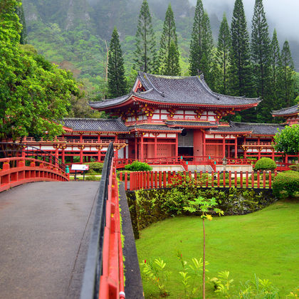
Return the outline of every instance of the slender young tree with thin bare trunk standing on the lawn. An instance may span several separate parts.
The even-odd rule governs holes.
[[[206,199],[202,196],[199,196],[196,199],[188,201],[189,206],[184,206],[185,211],[189,211],[190,213],[201,213],[202,219],[202,229],[204,234],[204,246],[203,246],[203,265],[202,265],[202,298],[206,298],[206,234],[204,229],[204,219],[208,219],[211,221],[213,217],[212,213],[218,214],[219,216],[224,214],[224,211],[216,208],[217,205],[216,199],[212,197],[211,199]]]

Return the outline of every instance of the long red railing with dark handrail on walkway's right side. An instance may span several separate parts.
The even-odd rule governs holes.
[[[125,298],[120,209],[113,145],[110,143],[85,263],[81,299]]]

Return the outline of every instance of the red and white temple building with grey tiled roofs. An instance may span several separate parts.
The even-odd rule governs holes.
[[[67,163],[103,161],[111,141],[116,157],[124,163],[133,159],[175,161],[178,157],[194,163],[219,162],[224,157],[281,160],[283,153],[275,152],[273,136],[285,125],[298,123],[298,105],[272,112],[275,117],[285,117],[283,125],[222,120],[260,102],[261,98],[214,93],[203,75],[170,77],[140,72],[128,95],[89,103],[115,118],[65,118],[65,133],[55,141],[27,137],[25,142]],[[284,159],[288,161],[288,157]]]

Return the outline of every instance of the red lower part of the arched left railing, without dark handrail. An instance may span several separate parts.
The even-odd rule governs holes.
[[[26,163],[28,166],[26,166]],[[58,165],[27,157],[0,159],[0,192],[20,184],[38,181],[68,181]]]

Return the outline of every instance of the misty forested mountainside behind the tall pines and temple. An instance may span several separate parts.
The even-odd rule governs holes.
[[[189,63],[190,55],[192,55],[190,42],[192,40],[196,9],[194,4],[189,1],[172,0],[170,2],[177,33],[180,74],[194,75],[194,72],[190,72]],[[100,99],[107,97],[107,84],[105,83],[107,48],[110,46],[112,31],[116,27],[120,36],[125,75],[127,77],[127,90],[129,90],[135,78],[135,70],[133,70],[136,51],[135,34],[141,4],[142,0],[23,0],[28,33],[27,41],[33,44],[38,53],[41,53],[48,60],[57,63],[62,68],[71,70],[75,77],[83,82],[88,99]],[[159,51],[163,21],[169,1],[148,0],[148,4],[157,41],[157,51]],[[231,26],[234,7],[227,6],[226,9],[227,11],[224,12],[228,15],[228,23]],[[219,39],[219,29],[221,28],[221,18],[214,13],[210,14],[208,18],[215,52]],[[251,36],[253,31],[252,18],[253,16],[246,16],[246,29],[250,34],[249,39],[253,38]],[[273,31],[269,30],[269,38],[272,40]],[[277,38],[279,41],[278,47],[281,51],[285,38],[283,36],[277,36]],[[299,47],[296,46],[296,43],[299,42],[290,41],[290,49],[293,50],[294,67],[299,70]],[[249,50],[252,51],[252,49]],[[213,65],[209,66],[209,68],[211,67]],[[204,72],[211,88],[218,92],[265,98],[263,83],[256,90],[249,90],[248,88],[226,90],[222,85],[221,87],[214,86],[214,82],[209,79],[207,71],[204,68],[200,68],[200,70]],[[263,73],[263,70],[261,72]],[[258,80],[263,81],[263,78]],[[297,75],[297,82],[298,80]],[[297,83],[297,85],[299,84]],[[288,101],[281,98],[280,95],[277,96],[284,101],[284,104],[287,102],[291,105],[295,103],[294,99],[295,95],[298,95],[298,88],[295,88],[292,92],[293,95],[290,96],[291,98]],[[86,99],[82,103],[74,103],[78,109],[73,115],[89,116],[90,110],[84,108],[85,103]],[[280,108],[281,105],[281,103],[280,105],[268,103],[266,106],[261,105],[260,109],[264,110],[264,115],[269,107]],[[241,119],[246,121],[271,121],[271,117],[255,118],[252,117],[252,113],[247,112],[247,116],[243,115]]]

